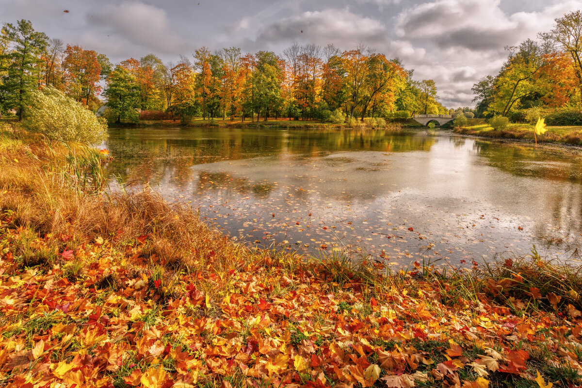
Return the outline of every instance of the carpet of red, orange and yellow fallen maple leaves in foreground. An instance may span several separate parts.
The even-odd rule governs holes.
[[[520,314],[485,295],[445,303],[446,287],[419,273],[376,289],[357,274],[337,283],[293,255],[164,272],[147,236],[24,264],[25,229],[11,221],[0,215],[0,386],[580,384],[579,317]]]

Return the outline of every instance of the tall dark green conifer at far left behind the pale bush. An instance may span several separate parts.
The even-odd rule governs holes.
[[[19,110],[19,120],[24,118],[24,108],[28,106],[31,92],[41,77],[40,55],[47,47],[45,33],[34,31],[29,20],[20,20],[16,26],[6,23],[2,35],[13,44],[12,51],[0,58],[6,62],[6,77],[2,83],[5,103]]]

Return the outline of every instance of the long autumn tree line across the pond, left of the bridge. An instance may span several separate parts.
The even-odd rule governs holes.
[[[48,38],[27,20],[5,24],[0,36],[0,112],[16,109],[20,119],[31,91],[47,86],[93,111],[107,104],[117,122],[136,122],[140,111],[184,120],[324,121],[337,112],[361,120],[448,113],[434,81],[414,81],[412,74],[398,58],[363,44],[340,51],[295,43],[280,55],[201,47],[175,63],[148,54],[112,65],[94,50]]]

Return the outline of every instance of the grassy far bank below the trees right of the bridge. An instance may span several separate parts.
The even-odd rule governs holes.
[[[456,127],[454,131],[455,133],[473,136],[534,141],[534,127],[533,124],[509,124],[506,129],[494,130],[489,124],[479,124],[469,127]],[[547,126],[546,129],[548,131],[545,134],[538,136],[538,143],[582,145],[582,127],[580,126]]]

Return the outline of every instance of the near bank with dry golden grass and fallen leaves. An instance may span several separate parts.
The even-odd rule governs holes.
[[[70,147],[0,133],[1,385],[580,384],[578,269],[247,250]]]

